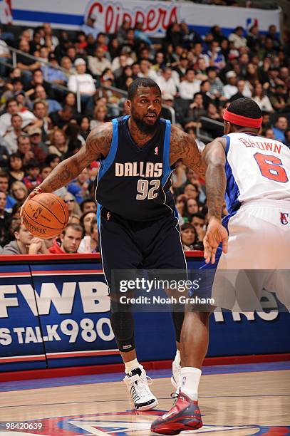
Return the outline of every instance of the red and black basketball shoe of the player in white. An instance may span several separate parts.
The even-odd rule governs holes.
[[[172,408],[152,422],[151,431],[160,435],[178,435],[184,430],[197,430],[202,427],[202,417],[197,401],[190,400],[179,392]]]

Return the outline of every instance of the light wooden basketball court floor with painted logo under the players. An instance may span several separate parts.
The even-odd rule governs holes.
[[[152,435],[173,389],[170,370],[147,375],[160,401],[150,412],[132,410],[120,373],[0,383],[0,435]],[[290,435],[290,362],[204,367],[200,409],[204,427],[182,435]]]

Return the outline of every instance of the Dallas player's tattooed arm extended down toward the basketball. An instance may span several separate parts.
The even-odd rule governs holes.
[[[76,155],[59,163],[39,185],[44,192],[53,192],[75,179],[93,160],[108,155],[113,135],[112,123],[103,123],[88,135],[86,144]]]

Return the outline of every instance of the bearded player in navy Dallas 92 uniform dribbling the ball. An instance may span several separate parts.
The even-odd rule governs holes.
[[[186,270],[170,175],[177,160],[202,177],[206,169],[195,140],[160,118],[161,102],[155,81],[133,81],[128,88],[130,116],[93,129],[86,145],[61,162],[29,196],[67,185],[93,160],[100,160],[95,198],[100,251],[111,297],[110,322],[125,363],[124,381],[138,410],[155,408],[157,399],[136,357],[133,313],[123,311],[114,299],[119,289],[114,289],[111,271],[140,266]],[[173,322],[178,348],[183,313],[173,313]],[[178,352],[172,369],[172,383],[175,380],[177,384]]]

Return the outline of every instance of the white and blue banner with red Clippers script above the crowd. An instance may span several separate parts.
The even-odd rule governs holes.
[[[280,12],[281,9],[269,11],[211,6],[190,1],[12,0],[14,24],[38,26],[48,22],[53,27],[77,30],[88,16],[92,16],[98,31],[115,33],[124,20],[130,21],[132,27],[142,21],[144,31],[155,37],[165,36],[168,25],[173,21],[185,21],[202,35],[215,24],[221,26],[226,35],[237,26],[249,28],[254,23],[263,32],[268,30],[270,24],[275,24],[279,31]]]

